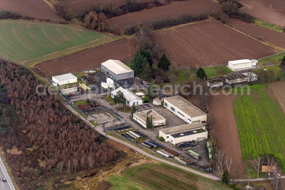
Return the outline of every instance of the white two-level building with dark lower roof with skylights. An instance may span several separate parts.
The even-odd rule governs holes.
[[[199,122],[170,127],[159,130],[159,136],[165,139],[165,142],[177,144],[185,141],[198,140],[199,138],[208,138],[208,132]]]

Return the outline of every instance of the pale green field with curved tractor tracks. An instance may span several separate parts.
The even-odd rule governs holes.
[[[32,65],[115,39],[73,25],[0,21],[0,55],[18,64]]]

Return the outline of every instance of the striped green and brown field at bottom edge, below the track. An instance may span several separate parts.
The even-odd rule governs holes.
[[[111,189],[228,189],[165,163],[134,166],[120,174],[112,175],[107,181],[112,183]]]

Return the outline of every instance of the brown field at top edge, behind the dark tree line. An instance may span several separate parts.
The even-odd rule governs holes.
[[[137,3],[144,3],[151,0],[135,0]],[[95,5],[112,2],[112,0],[64,0],[62,3],[72,9],[73,11],[76,11],[78,7],[85,7],[86,9],[89,9]],[[116,0],[115,2],[118,3],[118,6],[125,5],[126,0]]]

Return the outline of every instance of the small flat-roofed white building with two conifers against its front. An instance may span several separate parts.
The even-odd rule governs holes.
[[[134,113],[133,119],[137,121],[139,124],[141,124],[144,128],[146,128],[146,118],[150,117],[152,118],[152,125],[158,126],[158,125],[164,125],[165,124],[165,118],[159,115],[154,110],[146,110],[142,112],[136,112]]]

